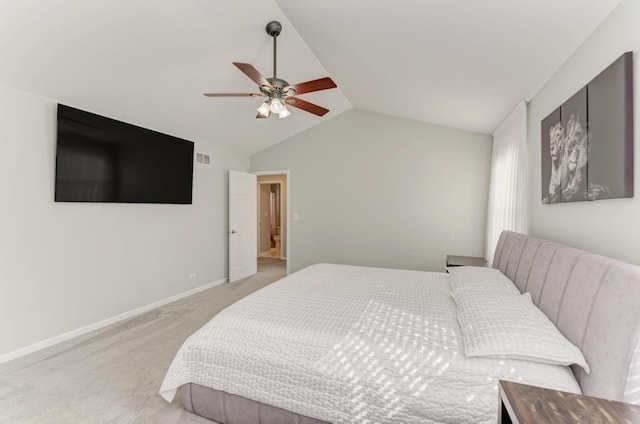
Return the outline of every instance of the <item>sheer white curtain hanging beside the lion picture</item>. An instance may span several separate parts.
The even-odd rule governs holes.
[[[489,264],[503,230],[528,230],[527,167],[527,104],[523,101],[493,132],[485,248]]]

